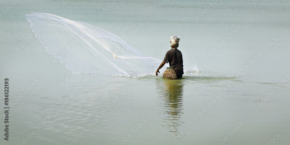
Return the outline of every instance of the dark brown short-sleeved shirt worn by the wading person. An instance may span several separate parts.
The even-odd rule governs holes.
[[[169,62],[169,66],[173,67],[177,75],[183,74],[183,60],[182,54],[177,49],[168,50],[163,59],[166,63]]]

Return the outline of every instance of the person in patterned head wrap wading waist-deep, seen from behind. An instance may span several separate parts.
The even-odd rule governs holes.
[[[179,43],[179,38],[176,36],[171,36],[170,38],[170,44],[171,44],[171,50],[168,50],[165,54],[165,57],[163,61],[161,62],[160,66],[156,70],[156,76],[158,76],[157,73],[160,73],[159,70],[164,66],[165,63],[169,62],[169,66],[173,67],[173,69],[176,72],[177,79],[182,77],[183,74],[183,60],[182,60],[182,54],[177,49]]]

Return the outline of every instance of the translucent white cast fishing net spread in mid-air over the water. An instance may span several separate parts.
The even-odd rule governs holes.
[[[26,14],[26,19],[47,52],[73,73],[140,76],[155,74],[162,62],[84,22],[46,13]]]

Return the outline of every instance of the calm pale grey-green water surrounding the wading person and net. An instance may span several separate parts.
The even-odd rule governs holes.
[[[289,6],[3,0],[0,74],[11,108],[0,144],[289,144]],[[160,59],[177,35],[188,71],[180,80],[72,74],[33,36],[30,12],[84,21]]]

